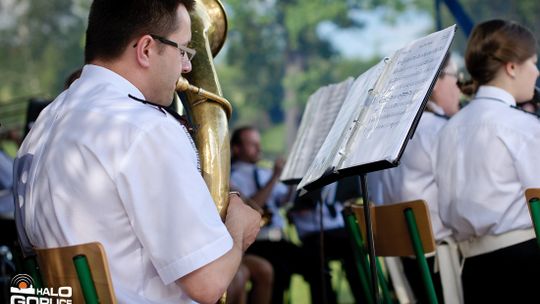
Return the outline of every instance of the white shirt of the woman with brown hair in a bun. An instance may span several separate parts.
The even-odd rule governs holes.
[[[515,104],[481,86],[440,132],[439,208],[458,241],[532,227],[524,190],[540,187],[540,122]]]

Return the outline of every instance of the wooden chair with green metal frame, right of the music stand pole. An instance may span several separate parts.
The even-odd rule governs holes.
[[[365,237],[366,225],[361,205],[351,206]],[[430,303],[438,303],[425,253],[434,252],[435,238],[426,202],[370,206],[375,254],[377,256],[416,256]]]

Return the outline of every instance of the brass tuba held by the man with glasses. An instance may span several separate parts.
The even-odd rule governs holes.
[[[221,97],[213,57],[225,42],[227,17],[219,0],[196,0],[190,17],[191,45],[197,50],[197,56],[192,59],[195,68],[185,79],[178,80],[176,89],[186,93],[184,107],[196,129],[194,141],[199,150],[202,175],[224,219],[229,204],[228,119],[232,107]]]

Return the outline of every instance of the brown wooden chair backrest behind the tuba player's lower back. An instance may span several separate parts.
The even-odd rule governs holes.
[[[85,303],[83,292],[88,294],[84,276],[80,279],[75,263],[88,262],[91,281],[95,286],[99,303],[116,303],[114,289],[105,250],[100,243],[87,243],[58,248],[35,248],[39,271],[47,288],[58,290],[62,286],[70,286],[73,291],[72,303]],[[86,259],[81,259],[85,257]],[[84,267],[83,267],[84,268]],[[83,274],[84,275],[84,274]],[[84,287],[83,288],[81,287]],[[93,290],[92,290],[93,291]],[[90,291],[90,292],[92,292]]]

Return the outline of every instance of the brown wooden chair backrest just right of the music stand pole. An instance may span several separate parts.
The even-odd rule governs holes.
[[[435,237],[426,202],[416,200],[397,204],[371,206],[373,240],[377,256],[414,256],[415,251],[407,226],[405,210],[411,209],[416,218],[424,253],[435,251]],[[363,206],[352,206],[362,234],[366,235]]]

